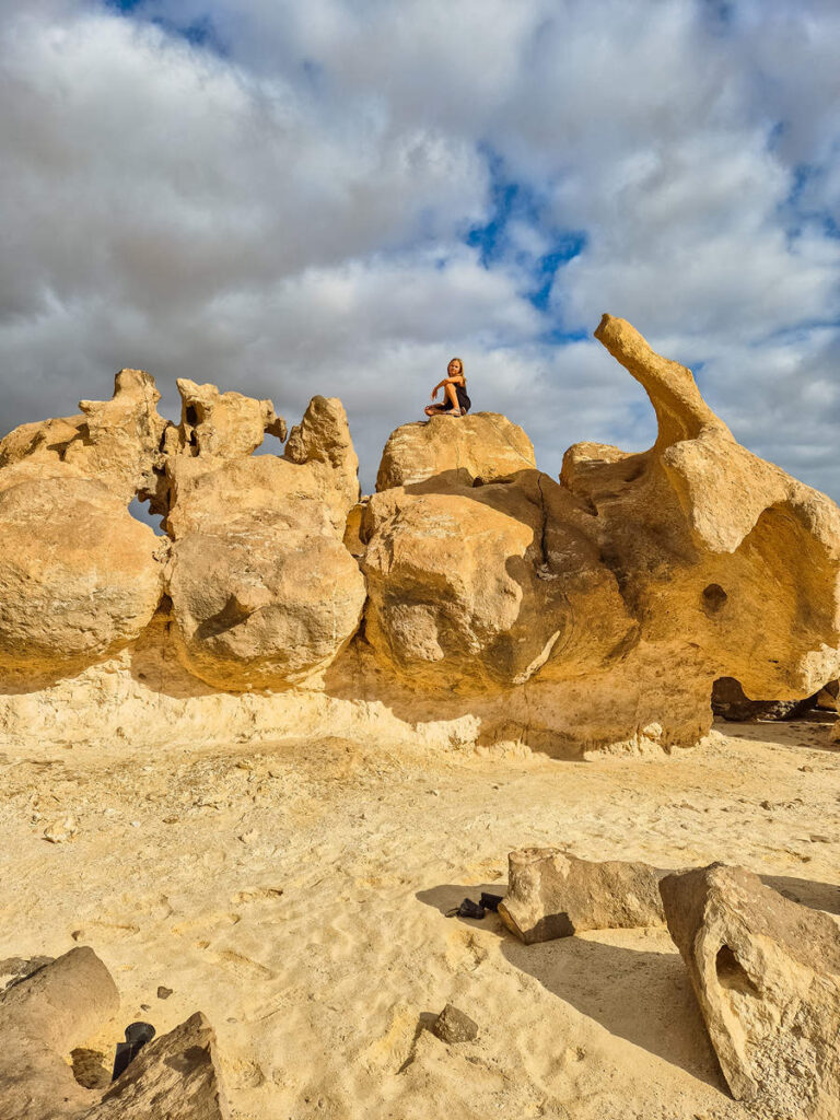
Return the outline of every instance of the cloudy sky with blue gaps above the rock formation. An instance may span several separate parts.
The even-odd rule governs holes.
[[[324,393],[370,488],[457,354],[556,474],[653,439],[608,310],[840,498],[839,48],[837,0],[2,0],[0,427]]]

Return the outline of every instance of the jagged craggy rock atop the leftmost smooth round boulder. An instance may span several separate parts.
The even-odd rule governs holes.
[[[0,487],[26,477],[73,476],[105,483],[123,504],[138,493],[155,494],[170,427],[158,414],[159,400],[148,373],[121,370],[110,401],[80,401],[80,416],[9,432],[0,441]]]

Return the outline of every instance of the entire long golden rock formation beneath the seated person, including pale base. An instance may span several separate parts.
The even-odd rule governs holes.
[[[635,455],[578,444],[559,480],[504,417],[436,417],[391,436],[360,502],[339,401],[315,396],[282,454],[254,455],[286,436],[270,401],[180,381],[174,424],[138,371],[111,401],[16,429],[0,739],[375,724],[441,745],[669,749],[709,729],[719,678],[816,692],[840,670],[840,512],[740,447],[629,324],[605,316],[596,336],[659,437]],[[134,496],[168,540],[129,516]]]

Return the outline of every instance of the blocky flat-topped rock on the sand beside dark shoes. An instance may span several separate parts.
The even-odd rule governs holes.
[[[526,945],[584,930],[664,924],[661,874],[647,864],[591,862],[559,848],[512,851],[507,864],[498,913]]]

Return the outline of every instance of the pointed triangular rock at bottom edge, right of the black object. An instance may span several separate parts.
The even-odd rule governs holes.
[[[140,1051],[78,1120],[230,1120],[216,1036],[197,1011]]]

